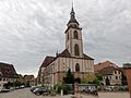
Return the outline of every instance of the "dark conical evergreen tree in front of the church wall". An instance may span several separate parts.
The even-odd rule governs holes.
[[[74,75],[71,73],[71,70],[68,70],[68,73],[66,77],[63,77],[63,82],[67,84],[73,84],[74,83]]]

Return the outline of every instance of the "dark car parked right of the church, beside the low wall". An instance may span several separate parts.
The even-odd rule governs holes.
[[[84,89],[85,93],[92,94],[92,95],[98,95],[97,87],[95,85],[90,85]]]

